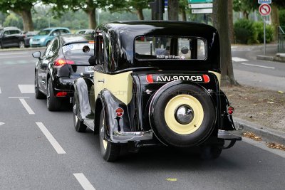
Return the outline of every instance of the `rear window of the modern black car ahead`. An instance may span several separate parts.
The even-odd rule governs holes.
[[[68,44],[63,46],[63,53],[66,56],[94,56],[94,42]]]

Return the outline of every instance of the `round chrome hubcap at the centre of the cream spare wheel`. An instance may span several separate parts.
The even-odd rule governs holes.
[[[180,105],[175,110],[175,119],[182,125],[187,125],[192,122],[194,118],[194,111],[189,105]]]

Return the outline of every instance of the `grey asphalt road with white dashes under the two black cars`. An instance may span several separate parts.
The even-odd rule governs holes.
[[[165,147],[103,161],[70,110],[35,99],[35,63],[31,51],[0,51],[0,189],[284,189],[285,153],[249,140],[214,161]]]

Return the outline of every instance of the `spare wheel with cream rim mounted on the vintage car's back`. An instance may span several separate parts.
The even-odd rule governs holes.
[[[149,109],[155,136],[175,147],[201,144],[216,122],[212,98],[207,90],[194,83],[167,83],[157,90]]]

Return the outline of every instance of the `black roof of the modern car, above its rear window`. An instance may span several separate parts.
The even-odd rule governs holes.
[[[64,34],[59,36],[62,46],[70,43],[83,43],[94,41],[93,36],[90,34]]]

